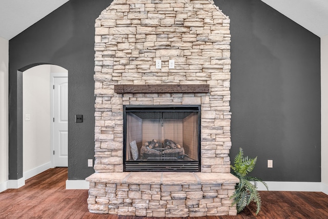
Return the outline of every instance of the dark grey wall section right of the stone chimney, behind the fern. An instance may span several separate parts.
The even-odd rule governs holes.
[[[320,38],[261,1],[217,2],[231,18],[232,160],[242,147],[265,181],[320,182]]]

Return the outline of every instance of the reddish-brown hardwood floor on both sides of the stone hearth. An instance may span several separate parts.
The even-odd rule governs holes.
[[[0,193],[0,218],[142,218],[89,213],[88,190],[66,190],[66,180],[67,168],[54,168],[30,178],[22,188]],[[257,216],[255,206],[250,205],[237,216],[187,219],[328,218],[328,195],[322,192],[261,191],[260,195],[262,209]]]

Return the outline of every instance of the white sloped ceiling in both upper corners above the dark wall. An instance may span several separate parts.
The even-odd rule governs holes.
[[[69,0],[0,0],[0,37],[11,39]],[[261,0],[319,37],[328,35],[328,0]]]

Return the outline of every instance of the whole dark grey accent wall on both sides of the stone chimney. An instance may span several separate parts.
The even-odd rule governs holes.
[[[231,18],[232,160],[242,147],[265,181],[320,182],[320,38],[260,0],[215,2]],[[68,70],[68,177],[93,173],[94,19],[110,3],[71,0],[9,41],[10,179],[23,174],[17,70],[36,63]]]

